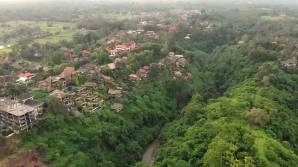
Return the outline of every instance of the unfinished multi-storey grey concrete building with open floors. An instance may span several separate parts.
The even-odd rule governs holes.
[[[0,98],[0,123],[20,130],[28,130],[36,123],[34,108],[14,100]]]

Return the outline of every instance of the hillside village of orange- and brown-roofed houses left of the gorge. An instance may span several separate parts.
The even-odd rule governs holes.
[[[141,24],[146,24],[142,22]],[[162,29],[168,29],[169,32],[176,31],[172,25],[160,25]],[[133,41],[127,42],[127,37],[133,34],[144,34],[145,38],[156,39],[157,33],[154,31],[144,31],[143,29],[135,31],[122,31],[115,36],[110,37],[103,42],[102,46],[94,50],[81,50],[75,52],[74,48],[61,47],[59,51],[63,52],[64,59],[68,62],[78,62],[90,60],[89,57],[94,52],[104,52],[113,60],[112,63],[98,65],[95,61],[85,61],[80,67],[65,66],[63,71],[58,75],[50,75],[44,78],[39,72],[48,72],[50,67],[42,66],[37,63],[28,63],[23,59],[18,59],[13,55],[7,56],[2,60],[2,65],[13,67],[13,73],[2,76],[0,84],[24,85],[31,91],[47,92],[49,97],[55,97],[61,104],[64,104],[69,112],[80,112],[87,114],[102,107],[109,107],[111,112],[121,112],[125,107],[125,93],[133,91],[150,73],[150,65],[141,66],[137,71],[126,76],[126,81],[117,82],[117,78],[111,75],[105,75],[104,71],[115,73],[122,70],[121,63],[130,61],[130,53],[134,53],[143,43]],[[190,35],[188,35],[190,36]],[[39,53],[34,53],[34,57],[41,57]],[[154,63],[154,62],[152,62]],[[176,55],[169,52],[166,57],[156,62],[163,68],[171,66],[174,69],[173,79],[183,77],[191,78],[191,74],[185,70],[187,60],[183,55]],[[78,80],[84,79],[83,82]],[[0,100],[0,123],[2,129],[8,127],[14,132],[18,130],[29,130],[35,125],[36,120],[43,115],[43,105],[45,102],[36,101],[34,95],[22,93],[17,97],[3,96]],[[16,128],[17,126],[18,128]],[[5,130],[4,130],[5,131]],[[6,129],[6,131],[8,131]]]

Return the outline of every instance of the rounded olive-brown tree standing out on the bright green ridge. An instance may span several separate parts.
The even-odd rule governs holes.
[[[270,120],[267,111],[255,107],[250,109],[250,111],[247,113],[247,118],[250,125],[261,126],[265,126]]]

